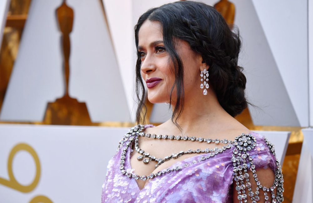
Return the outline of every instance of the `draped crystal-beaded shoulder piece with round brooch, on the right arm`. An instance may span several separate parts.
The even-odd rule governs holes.
[[[253,158],[250,156],[249,151],[254,149],[256,146],[256,138],[253,135],[241,135],[236,137],[235,146],[233,150],[232,162],[233,162],[233,175],[234,181],[236,181],[236,191],[238,191],[238,200],[240,203],[247,202],[247,197],[249,196],[252,200],[252,203],[256,203],[260,200],[260,192],[264,192],[265,202],[269,203],[269,195],[272,197],[272,203],[280,203],[284,201],[283,197],[283,174],[281,171],[281,166],[279,161],[276,158],[274,145],[270,143],[267,138],[264,137],[264,140],[269,148],[270,153],[272,153],[276,158],[276,170],[275,170],[275,180],[273,185],[270,188],[262,186],[258,176],[255,171],[255,165],[253,163]],[[257,188],[256,191],[252,191],[251,183],[249,180],[249,170],[248,164],[250,163],[250,170],[252,171],[253,178],[256,182]],[[245,193],[245,189],[248,188],[248,196]],[[274,190],[277,188],[277,193],[274,194]],[[271,193],[271,194],[269,194]],[[235,194],[234,194],[235,195]]]

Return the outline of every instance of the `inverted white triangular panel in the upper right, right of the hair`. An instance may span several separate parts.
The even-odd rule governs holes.
[[[308,126],[307,1],[252,2],[300,125]]]

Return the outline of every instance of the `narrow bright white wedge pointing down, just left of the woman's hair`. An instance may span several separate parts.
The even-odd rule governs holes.
[[[134,120],[133,87],[135,81],[136,47],[133,40],[132,1],[102,0],[105,16],[112,37],[117,64],[121,73],[121,84],[127,99],[128,108]],[[134,97],[135,98],[135,97]]]

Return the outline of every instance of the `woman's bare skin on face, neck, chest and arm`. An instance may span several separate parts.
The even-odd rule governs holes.
[[[141,53],[141,76],[144,82],[151,77],[159,77],[162,79],[156,86],[148,88],[148,100],[151,103],[169,103],[171,87],[174,83],[175,75],[171,72],[170,66],[173,66],[173,64],[169,62],[169,55],[162,42],[163,35],[161,24],[157,21],[146,20],[139,30],[138,38],[138,52]],[[223,109],[217,100],[213,88],[208,88],[208,94],[203,95],[203,89],[200,88],[200,72],[203,71],[203,69],[210,72],[209,66],[206,63],[202,63],[201,55],[194,52],[186,41],[178,39],[176,42],[175,49],[182,59],[184,68],[185,103],[182,115],[177,120],[177,123],[183,130],[181,132],[177,126],[172,123],[171,119],[169,119],[159,126],[146,128],[145,133],[175,136],[187,135],[219,139],[226,138],[229,140],[234,140],[235,137],[241,133],[249,133],[248,128],[243,126]],[[210,82],[210,76],[208,82]],[[175,107],[175,102],[176,88],[172,93],[172,109]],[[139,143],[142,149],[156,157],[165,157],[182,150],[187,151],[188,149],[220,148],[223,146],[223,144],[210,144],[210,146],[208,146],[207,143],[155,140],[146,137],[139,137]],[[180,156],[177,159],[166,161],[155,169],[155,162],[143,164],[141,161],[137,161],[139,155],[140,154],[134,150],[131,154],[130,162],[131,168],[135,169],[134,172],[140,176],[148,175],[152,172],[156,173],[157,171],[172,166],[178,161],[197,156],[197,154]],[[273,171],[269,168],[266,170],[257,170],[257,173],[258,176],[260,176],[261,184],[264,186],[269,185],[266,184],[266,181],[269,181],[270,185],[273,183]],[[250,176],[252,177],[252,175]],[[140,189],[148,182],[142,180],[136,181]],[[255,184],[253,184],[255,182],[251,181],[251,183],[254,186],[253,191],[255,191]],[[234,192],[237,193],[237,191]],[[236,199],[237,196],[234,196],[234,202],[238,202]]]

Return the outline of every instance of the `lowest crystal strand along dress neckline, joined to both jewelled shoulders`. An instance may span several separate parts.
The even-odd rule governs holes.
[[[120,147],[124,146],[124,143],[125,143],[125,147],[123,147],[122,152],[121,152],[121,162],[120,162],[121,173],[129,178],[134,178],[136,180],[141,179],[143,181],[146,181],[146,180],[155,178],[156,176],[162,176],[163,174],[170,173],[172,171],[177,172],[177,171],[182,170],[182,166],[175,166],[172,168],[164,169],[162,171],[158,171],[157,173],[151,173],[148,176],[139,176],[132,172],[126,171],[125,166],[124,166],[126,151],[131,150],[131,144],[134,142],[137,136],[142,136],[143,129],[144,129],[144,125],[136,125],[132,127],[131,130],[128,133],[126,133],[124,138],[120,141],[119,146],[116,151],[119,151]],[[264,140],[269,148],[270,153],[272,153],[276,158],[274,145],[272,145],[266,138],[264,138]],[[255,171],[253,158],[249,154],[249,151],[254,149],[255,146],[256,146],[256,138],[252,134],[242,133],[240,136],[237,136],[235,138],[235,141],[233,143],[223,146],[221,150],[214,149],[213,152],[208,153],[207,156],[201,156],[201,158],[198,161],[193,160],[191,163],[189,164],[185,163],[183,166],[184,167],[192,166],[193,164],[196,164],[200,161],[210,159],[211,157],[214,157],[215,155],[219,153],[223,153],[223,151],[231,147],[235,147],[233,149],[233,155],[232,155],[231,161],[233,162],[233,176],[234,176],[233,180],[236,182],[236,190],[238,191],[237,198],[239,202],[240,203],[247,202],[248,196],[247,194],[245,194],[245,189],[248,188],[248,191],[249,191],[248,195],[251,198],[252,203],[257,203],[260,200],[259,194],[260,194],[260,191],[262,190],[264,192],[264,199],[266,203],[269,203],[268,192],[271,193],[272,203],[281,203],[284,201],[284,197],[283,197],[284,179],[283,179],[283,174],[281,171],[280,163],[276,158],[275,180],[274,180],[273,185],[270,188],[262,186]],[[255,192],[253,192],[251,189],[251,183],[249,180],[248,170],[252,171],[254,181],[256,181],[257,188]],[[275,188],[277,188],[276,195],[274,194]]]

